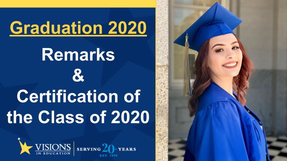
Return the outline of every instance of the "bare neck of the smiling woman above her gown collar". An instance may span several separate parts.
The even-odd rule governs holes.
[[[211,81],[219,85],[222,89],[228,92],[232,97],[235,98],[233,95],[233,77],[232,78],[211,78]]]

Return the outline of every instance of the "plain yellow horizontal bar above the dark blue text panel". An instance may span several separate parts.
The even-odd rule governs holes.
[[[39,0],[14,0],[14,1],[1,1],[0,7],[153,7],[156,6],[156,0],[49,0],[49,1],[39,1]]]

